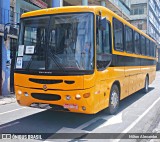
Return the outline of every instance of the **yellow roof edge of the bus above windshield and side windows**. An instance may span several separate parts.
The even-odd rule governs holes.
[[[120,20],[123,24],[131,27],[133,30],[137,31],[141,35],[147,37],[148,39],[156,42],[150,36],[139,30],[137,27],[133,26],[125,19],[114,13],[113,11],[109,10],[103,6],[64,6],[64,7],[56,7],[56,8],[47,8],[41,10],[30,11],[27,13],[22,14],[21,18],[33,17],[33,16],[40,16],[40,15],[51,15],[51,14],[60,14],[60,13],[72,13],[72,12],[93,12],[94,14],[99,14],[99,12],[108,13],[110,16],[115,17],[116,19]]]

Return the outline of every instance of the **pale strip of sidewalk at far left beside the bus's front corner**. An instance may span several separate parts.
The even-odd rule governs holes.
[[[8,96],[0,96],[0,105],[10,104],[16,102],[16,97],[14,94]]]

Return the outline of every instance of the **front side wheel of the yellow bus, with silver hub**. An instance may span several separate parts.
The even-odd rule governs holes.
[[[119,108],[119,88],[116,84],[112,86],[111,92],[110,92],[110,99],[109,99],[109,108],[108,112],[110,115],[116,114]]]

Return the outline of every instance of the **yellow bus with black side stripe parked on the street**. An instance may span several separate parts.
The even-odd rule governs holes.
[[[155,79],[156,42],[101,6],[21,16],[15,93],[22,106],[95,114]]]

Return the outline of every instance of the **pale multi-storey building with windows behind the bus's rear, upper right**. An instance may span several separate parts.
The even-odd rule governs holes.
[[[160,0],[131,0],[131,24],[157,41],[160,70]]]

